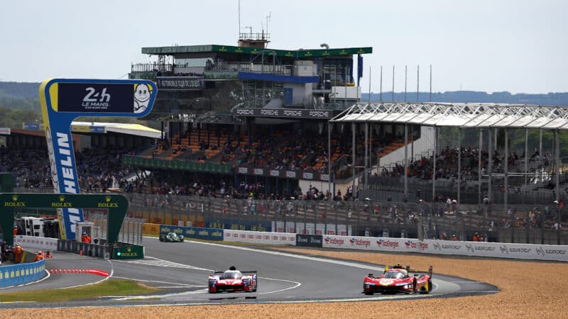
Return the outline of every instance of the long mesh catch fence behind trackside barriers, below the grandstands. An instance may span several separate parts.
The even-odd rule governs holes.
[[[493,242],[568,244],[566,230],[552,229],[558,213],[552,206],[518,205],[508,214],[496,205],[388,200],[269,201],[158,194],[129,194],[129,199],[133,216],[156,224],[274,232],[293,228],[308,234],[315,229],[321,235],[349,230],[348,235],[420,239],[445,234],[471,240],[478,233]],[[285,228],[278,227],[284,223]]]

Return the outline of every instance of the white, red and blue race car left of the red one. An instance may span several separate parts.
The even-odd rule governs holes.
[[[257,288],[256,270],[239,272],[234,266],[229,267],[229,270],[224,272],[214,272],[207,279],[207,291],[209,293],[220,293],[223,291],[254,292]]]

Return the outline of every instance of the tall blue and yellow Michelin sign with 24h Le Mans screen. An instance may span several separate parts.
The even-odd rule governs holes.
[[[71,122],[80,116],[141,118],[158,89],[148,80],[47,79],[40,84],[41,113],[55,193],[79,194]],[[75,239],[80,208],[58,208],[62,239]]]

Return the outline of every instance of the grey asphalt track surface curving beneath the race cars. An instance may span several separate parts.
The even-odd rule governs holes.
[[[402,298],[448,298],[496,293],[496,286],[442,274],[432,276],[429,294],[366,296],[366,274],[381,274],[383,266],[365,262],[290,254],[268,247],[229,246],[210,242],[160,242],[145,237],[146,257],[134,260],[104,260],[56,252],[46,269],[57,269],[33,284],[0,289],[0,292],[59,289],[95,284],[110,278],[133,279],[162,289],[148,296],[107,296],[58,303],[0,303],[0,308],[50,308],[84,306],[167,306],[224,303],[301,303],[328,301],[386,301]],[[394,255],[393,255],[394,256]],[[207,277],[214,270],[237,269],[258,272],[256,293],[207,293]],[[60,273],[60,270],[71,273]],[[76,273],[77,269],[100,269],[109,277]],[[426,269],[422,269],[426,270]]]

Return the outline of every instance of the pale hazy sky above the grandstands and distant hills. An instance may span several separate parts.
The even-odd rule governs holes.
[[[361,91],[568,91],[568,1],[241,0],[273,49],[373,47]],[[270,16],[267,19],[267,16]],[[141,47],[236,45],[239,0],[2,0],[0,81],[127,79]]]

